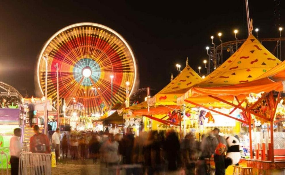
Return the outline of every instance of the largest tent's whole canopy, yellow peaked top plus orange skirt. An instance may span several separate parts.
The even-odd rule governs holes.
[[[211,103],[213,99],[208,95],[232,101],[234,96],[244,99],[249,93],[283,90],[282,82],[274,82],[267,78],[273,74],[277,76],[280,70],[282,72],[285,64],[280,62],[253,35],[250,35],[219,68],[180,96],[177,104],[185,103],[185,99]],[[263,76],[265,72],[268,73]]]

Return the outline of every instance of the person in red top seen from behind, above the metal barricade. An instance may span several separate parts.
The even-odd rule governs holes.
[[[39,126],[33,128],[35,135],[30,138],[30,150],[32,153],[50,153],[50,141],[47,135],[39,132]]]

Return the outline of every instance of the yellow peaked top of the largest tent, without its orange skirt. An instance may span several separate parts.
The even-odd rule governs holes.
[[[248,76],[253,80],[279,63],[281,61],[278,58],[250,35],[233,55],[196,86],[225,86],[247,82]],[[234,76],[235,74],[239,76]]]

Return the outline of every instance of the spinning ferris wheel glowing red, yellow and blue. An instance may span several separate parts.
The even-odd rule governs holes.
[[[126,82],[130,94],[136,82],[136,60],[125,39],[96,23],[77,23],[56,32],[43,46],[37,64],[37,84],[45,91],[47,56],[47,98],[56,102],[56,64],[59,97],[66,106],[79,103],[79,115],[90,116],[126,100]],[[72,110],[66,111],[70,115]]]

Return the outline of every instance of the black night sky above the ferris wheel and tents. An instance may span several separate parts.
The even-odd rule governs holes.
[[[278,1],[248,0],[259,38],[278,37],[279,23],[274,10]],[[171,3],[170,3],[171,2]],[[162,89],[177,75],[175,64],[185,66],[186,57],[195,70],[207,57],[210,36],[218,44],[245,39],[246,12],[243,0],[195,1],[1,1],[0,81],[22,93],[35,95],[34,73],[37,56],[55,32],[78,22],[95,22],[120,33],[132,46],[138,60],[140,87]],[[276,21],[277,20],[277,21]],[[282,21],[283,20],[283,21]]]

